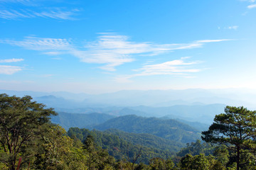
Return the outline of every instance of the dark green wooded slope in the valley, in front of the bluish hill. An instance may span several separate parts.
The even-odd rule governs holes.
[[[112,133],[110,133],[109,131],[100,132],[97,130],[91,131],[79,128],[70,128],[68,130],[68,136],[73,139],[79,139],[82,142],[84,142],[89,135],[95,139],[95,144],[97,145],[97,147],[107,149],[109,154],[117,160],[126,159],[128,162],[132,162],[134,157],[139,152],[141,152],[142,154],[137,159],[136,163],[143,162],[144,164],[149,164],[149,160],[154,157],[168,159],[169,157],[174,155],[174,152],[171,152],[169,150],[132,144],[131,142],[127,142],[126,140],[123,140],[117,135],[112,135]],[[136,136],[137,135],[135,135],[135,137]]]

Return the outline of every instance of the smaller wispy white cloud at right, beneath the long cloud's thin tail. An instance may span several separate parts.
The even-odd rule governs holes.
[[[130,82],[133,77],[153,76],[153,75],[180,75],[185,78],[191,78],[188,74],[200,72],[201,69],[191,68],[194,64],[199,64],[201,61],[184,62],[189,57],[182,57],[180,60],[172,60],[160,64],[144,65],[140,69],[134,69],[136,74],[121,75],[115,77],[115,81],[119,83]]]

